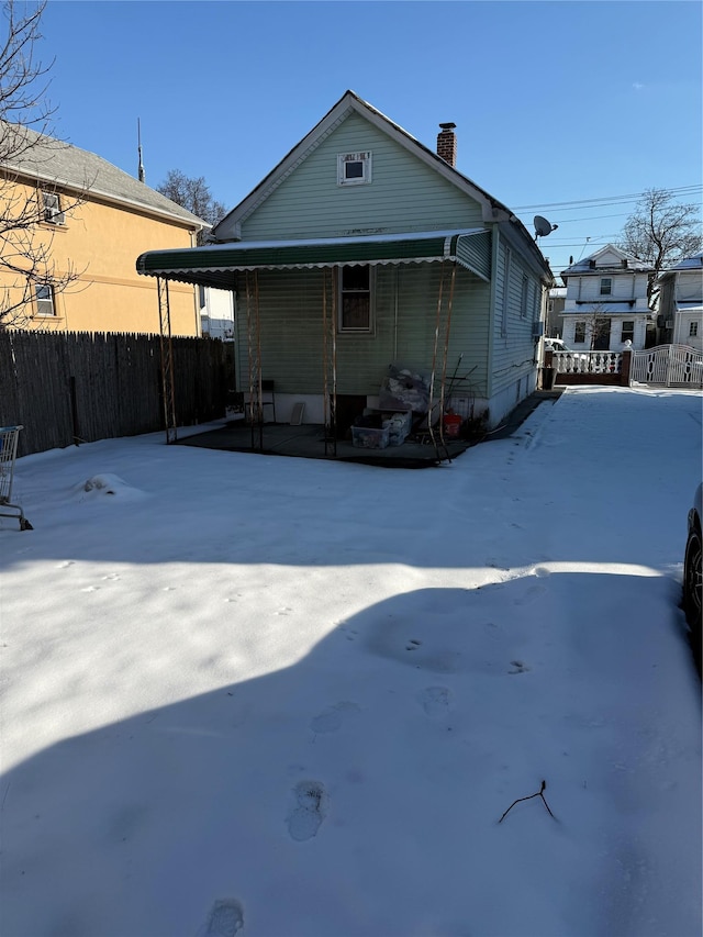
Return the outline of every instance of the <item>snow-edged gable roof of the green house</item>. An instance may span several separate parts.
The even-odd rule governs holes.
[[[403,130],[399,124],[387,118],[367,101],[359,98],[354,91],[346,91],[337,103],[325,114],[325,116],[298,143],[281,161],[249,192],[237,205],[235,205],[220,221],[211,232],[215,242],[231,242],[241,239],[242,223],[253,214],[256,209],[293,172],[293,170],[308,157],[313,149],[342,124],[352,113],[360,114],[373,126],[388,134],[400,146],[411,152],[415,157],[429,166],[434,171],[443,176],[453,186],[456,186],[464,194],[477,201],[482,209],[483,221],[487,223],[512,222],[520,231],[521,236],[529,244],[527,248],[540,265],[547,267],[546,260],[539,248],[535,245],[531,234],[522,222],[510,211],[506,205],[493,196],[481,189],[467,176],[464,176],[450,166],[432,149],[420,143],[412,134]]]

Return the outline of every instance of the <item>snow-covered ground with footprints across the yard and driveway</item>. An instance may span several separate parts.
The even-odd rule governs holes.
[[[700,935],[700,395],[606,388],[422,471],[18,460],[3,937]]]

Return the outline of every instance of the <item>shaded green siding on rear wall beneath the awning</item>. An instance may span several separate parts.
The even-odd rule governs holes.
[[[433,365],[437,297],[443,265],[421,264],[377,267],[375,274],[375,332],[336,336],[337,392],[377,394],[393,362],[429,372]],[[451,265],[444,265],[443,320],[448,311]],[[323,277],[330,302],[331,275],[322,270],[261,270],[258,274],[261,376],[276,381],[280,393],[322,393],[323,390]],[[249,305],[254,309],[253,278]],[[457,266],[446,371],[449,378],[462,355],[460,373],[471,371],[470,389],[484,393],[487,379],[490,287]],[[246,279],[238,275],[238,362],[243,389],[247,383]],[[442,372],[444,343],[439,343],[437,377]],[[469,384],[462,384],[466,392]]]

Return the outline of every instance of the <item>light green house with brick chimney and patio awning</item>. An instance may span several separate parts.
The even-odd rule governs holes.
[[[433,420],[495,426],[535,389],[553,276],[455,156],[454,124],[434,152],[347,91],[211,243],[137,270],[234,292],[237,390],[258,405],[274,381],[279,422],[295,410],[344,431],[365,408],[403,409],[408,376]]]

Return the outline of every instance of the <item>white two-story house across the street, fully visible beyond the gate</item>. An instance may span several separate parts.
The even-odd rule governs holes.
[[[627,341],[634,349],[644,348],[652,320],[647,304],[652,272],[649,264],[613,244],[567,267],[561,274],[565,343],[584,352],[622,352]]]

